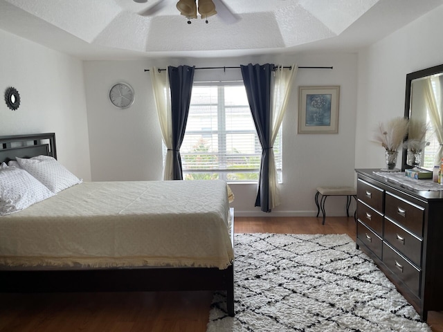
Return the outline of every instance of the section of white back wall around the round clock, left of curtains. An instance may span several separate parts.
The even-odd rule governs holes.
[[[162,144],[144,61],[84,62],[93,181],[161,180]],[[117,82],[135,90],[132,107],[109,101]]]

